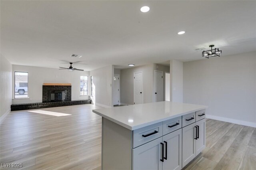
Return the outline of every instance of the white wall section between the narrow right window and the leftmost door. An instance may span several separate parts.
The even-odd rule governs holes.
[[[96,105],[112,107],[112,84],[114,76],[114,66],[110,65],[90,71],[93,76],[95,92],[93,99]]]

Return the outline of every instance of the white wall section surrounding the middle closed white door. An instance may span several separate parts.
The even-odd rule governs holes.
[[[121,103],[133,105],[134,90],[133,81],[134,73],[143,73],[143,103],[153,102],[153,83],[154,83],[154,64],[131,67],[128,69],[121,69]]]

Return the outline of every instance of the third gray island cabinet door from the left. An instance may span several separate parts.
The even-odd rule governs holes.
[[[182,168],[196,156],[196,123],[182,128]]]

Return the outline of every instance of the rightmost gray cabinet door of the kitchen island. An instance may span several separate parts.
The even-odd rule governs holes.
[[[199,132],[198,139],[196,140],[196,155],[198,155],[205,148],[206,143],[205,119],[196,122],[196,126],[198,126]]]

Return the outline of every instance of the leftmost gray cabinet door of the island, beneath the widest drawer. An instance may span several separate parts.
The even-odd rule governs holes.
[[[162,137],[132,149],[133,170],[162,170]]]

